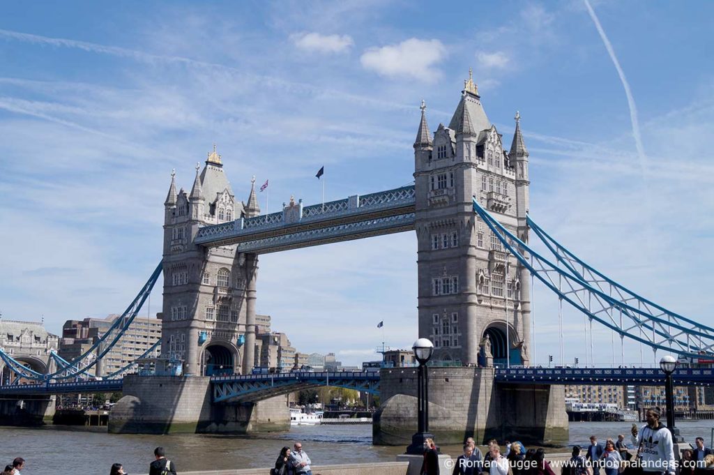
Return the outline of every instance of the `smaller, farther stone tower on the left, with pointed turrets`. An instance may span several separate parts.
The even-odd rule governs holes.
[[[236,246],[193,244],[200,226],[257,216],[253,187],[248,204],[236,197],[216,146],[196,164],[191,193],[176,192],[171,174],[164,216],[164,309],[161,355],[184,361],[191,376],[251,370],[255,348],[258,260]]]

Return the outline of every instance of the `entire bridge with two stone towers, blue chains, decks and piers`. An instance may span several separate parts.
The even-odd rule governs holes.
[[[506,150],[470,74],[448,126],[438,124],[432,134],[422,103],[413,186],[310,206],[291,199],[272,214],[261,214],[254,179],[248,200],[236,198],[214,146],[196,166],[190,191],[177,191],[171,175],[161,264],[110,331],[79,359],[57,361],[56,371],[35,371],[0,351],[6,371],[38,381],[1,386],[0,394],[121,387],[125,397],[112,411],[113,431],[270,431],[289,425],[284,394],[333,384],[378,391],[374,440],[408,442],[416,420],[414,369],[251,374],[258,360],[260,254],[404,231],[414,231],[418,244],[418,336],[433,341],[434,360],[448,362],[428,369],[430,413],[436,414],[431,429],[442,444],[468,435],[564,441],[563,384],[662,381],[648,369],[531,367],[531,278],[558,296],[561,309],[565,302],[622,339],[682,356],[714,354],[713,328],[608,279],[531,219],[529,154],[520,114],[515,120]],[[531,237],[552,256],[534,251]],[[76,381],[124,336],[160,274],[161,355],[180,361],[183,376],[123,377],[132,362],[108,381]],[[228,374],[211,377],[218,360]],[[677,378],[677,384],[714,382],[711,370],[682,370]]]

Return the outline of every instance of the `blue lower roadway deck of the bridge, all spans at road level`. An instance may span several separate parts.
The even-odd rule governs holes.
[[[496,368],[501,384],[664,384],[659,369],[650,368]],[[714,369],[678,369],[675,386],[713,386]],[[340,386],[378,394],[377,371],[292,371],[278,374],[212,376],[216,402],[260,400],[314,386]],[[121,379],[0,386],[1,395],[74,394],[121,391]]]

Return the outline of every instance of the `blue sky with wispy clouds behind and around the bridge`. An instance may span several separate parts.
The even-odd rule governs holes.
[[[593,1],[34,2],[0,5],[0,310],[59,333],[121,312],[161,258],[169,174],[213,143],[238,199],[270,210],[412,181],[421,99],[450,119],[473,67],[510,144],[521,111],[531,216],[623,284],[709,314],[714,4]],[[261,206],[265,196],[261,194]],[[258,311],[346,363],[416,339],[412,233],[261,257]],[[557,310],[535,296],[536,360]],[[159,311],[154,292],[151,313]],[[582,319],[565,312],[568,339]],[[595,334],[610,361],[610,334]],[[566,361],[576,346],[566,345]],[[619,354],[619,346],[617,346]],[[639,346],[625,343],[629,361]],[[651,360],[646,356],[645,361]]]

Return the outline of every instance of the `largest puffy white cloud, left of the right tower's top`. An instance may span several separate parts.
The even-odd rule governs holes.
[[[411,77],[420,81],[435,81],[441,71],[434,66],[446,56],[446,47],[438,39],[410,38],[400,44],[370,48],[360,61],[366,69],[388,77]]]

